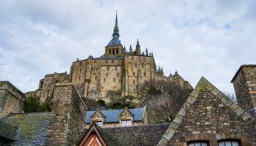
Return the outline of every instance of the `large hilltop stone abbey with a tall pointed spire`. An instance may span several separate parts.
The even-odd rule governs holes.
[[[119,96],[140,96],[143,82],[148,80],[167,80],[177,82],[183,88],[192,88],[178,72],[165,77],[163,69],[155,64],[153,53],[141,51],[137,40],[135,50],[129,50],[120,42],[118,18],[113,29],[112,39],[105,47],[105,53],[98,58],[92,55],[84,60],[72,63],[70,73],[47,74],[40,80],[37,91],[26,93],[26,96],[39,96],[42,102],[52,96],[55,85],[71,84],[82,97],[101,98],[108,97],[108,93]]]

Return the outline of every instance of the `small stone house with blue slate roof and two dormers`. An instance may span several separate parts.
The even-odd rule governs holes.
[[[143,126],[148,123],[146,107],[124,110],[96,110],[86,114],[86,128],[91,123],[101,127]]]

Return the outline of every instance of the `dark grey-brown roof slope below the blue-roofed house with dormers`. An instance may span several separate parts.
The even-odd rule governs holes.
[[[150,124],[146,126],[130,126],[103,128],[108,134],[119,139],[123,146],[157,145],[170,123]]]

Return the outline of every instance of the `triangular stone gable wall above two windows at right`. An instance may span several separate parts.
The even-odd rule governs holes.
[[[246,123],[208,89],[200,91],[189,109],[168,145],[207,140],[211,146],[217,146],[220,139],[241,139],[243,146],[256,145],[254,125]]]

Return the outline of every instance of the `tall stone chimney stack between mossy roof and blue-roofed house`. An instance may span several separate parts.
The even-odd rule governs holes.
[[[54,88],[49,101],[53,110],[50,119],[47,145],[75,145],[83,129],[87,108],[72,85]]]

